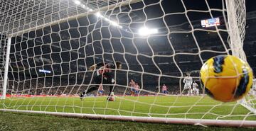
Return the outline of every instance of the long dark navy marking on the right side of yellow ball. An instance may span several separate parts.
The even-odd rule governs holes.
[[[242,96],[242,94],[245,93],[246,91],[246,87],[249,83],[249,74],[246,68],[242,69],[242,77],[240,79],[240,83],[238,85],[238,88],[235,91],[235,98],[238,98],[240,96]],[[233,92],[234,93],[234,92]]]

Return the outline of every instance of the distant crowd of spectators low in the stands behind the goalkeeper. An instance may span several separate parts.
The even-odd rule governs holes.
[[[54,82],[54,81],[53,81]],[[58,86],[56,86],[58,85]],[[93,86],[93,85],[90,85]],[[110,88],[106,85],[104,86],[103,95],[107,95]],[[159,86],[157,85],[144,85],[139,84],[140,89],[138,90],[139,96],[156,95],[161,94],[159,91]],[[175,84],[167,84],[168,93],[173,95],[178,95],[180,93],[180,88]],[[53,84],[52,81],[39,81],[28,80],[28,81],[9,81],[7,87],[8,94],[21,94],[21,95],[49,95],[49,96],[76,96],[80,92],[85,91],[88,84],[68,84],[67,81],[61,81],[61,85]],[[88,95],[97,96],[98,91],[92,91]],[[116,85],[114,86],[114,94],[119,96],[133,96],[132,89],[129,85]]]

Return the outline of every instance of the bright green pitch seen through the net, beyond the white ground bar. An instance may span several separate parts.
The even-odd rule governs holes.
[[[220,103],[208,96],[121,96],[115,101],[106,101],[106,97],[86,97],[83,101],[78,97],[6,98],[0,100],[0,108],[103,115],[256,120],[255,115],[240,104]]]

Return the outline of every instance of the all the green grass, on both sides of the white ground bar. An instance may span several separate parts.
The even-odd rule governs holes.
[[[86,97],[83,101],[78,97],[6,98],[0,100],[0,108],[103,115],[256,120],[255,115],[240,104],[220,103],[208,96],[118,96],[115,101],[106,101],[106,97]],[[0,115],[0,130],[255,130],[86,120],[27,113],[0,112]]]

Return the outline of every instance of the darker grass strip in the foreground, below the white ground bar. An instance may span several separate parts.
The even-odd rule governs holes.
[[[255,130],[248,127],[201,127],[158,123],[62,118],[53,115],[0,111],[0,130]]]

